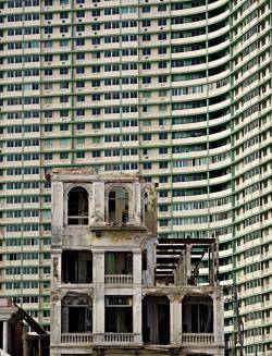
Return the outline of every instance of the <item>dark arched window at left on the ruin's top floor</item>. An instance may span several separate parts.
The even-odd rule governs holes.
[[[88,193],[83,187],[76,186],[69,192],[67,223],[88,224]]]

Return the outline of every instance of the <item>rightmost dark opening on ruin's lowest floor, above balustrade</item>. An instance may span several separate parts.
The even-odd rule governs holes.
[[[209,296],[185,296],[183,299],[183,332],[212,333],[213,304]]]

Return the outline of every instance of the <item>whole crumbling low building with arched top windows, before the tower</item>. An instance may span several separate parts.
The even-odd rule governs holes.
[[[156,269],[153,187],[83,169],[51,180],[50,355],[224,355],[214,258],[208,285],[198,284],[190,241],[172,280]]]

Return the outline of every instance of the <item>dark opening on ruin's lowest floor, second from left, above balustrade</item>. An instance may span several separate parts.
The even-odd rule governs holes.
[[[133,297],[108,296],[106,297],[104,314],[106,332],[132,333],[133,332]]]

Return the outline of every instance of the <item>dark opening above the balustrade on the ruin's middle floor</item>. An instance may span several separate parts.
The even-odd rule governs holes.
[[[132,253],[106,253],[104,274],[133,274]]]

